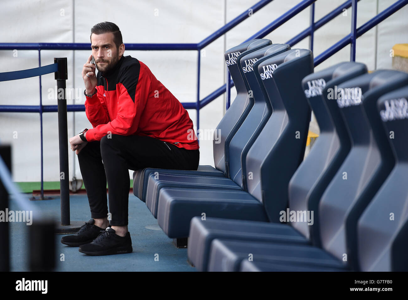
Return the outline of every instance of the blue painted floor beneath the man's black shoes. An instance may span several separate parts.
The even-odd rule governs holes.
[[[28,195],[28,194],[27,194]],[[31,196],[31,195],[29,195]],[[29,197],[27,196],[27,198]],[[60,221],[60,198],[31,201],[45,215]],[[86,195],[71,195],[71,221],[88,221],[91,218]],[[24,210],[10,201],[10,210]],[[29,271],[28,226],[10,222],[11,271]],[[129,194],[129,232],[133,253],[109,256],[88,256],[78,247],[62,244],[62,235],[55,235],[57,263],[55,271],[195,271],[187,262],[187,249],[177,249],[173,240],[157,224],[146,204]],[[64,254],[64,261],[61,261]],[[155,261],[155,256],[158,261]]]

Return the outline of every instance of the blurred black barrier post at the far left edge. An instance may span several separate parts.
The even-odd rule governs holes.
[[[0,158],[11,173],[11,146],[0,145]],[[0,180],[0,211],[9,207],[9,193]],[[9,216],[4,216],[8,218]],[[0,222],[0,272],[10,271],[9,222]]]

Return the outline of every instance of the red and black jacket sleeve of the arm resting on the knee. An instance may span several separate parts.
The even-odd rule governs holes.
[[[99,124],[86,132],[86,140],[100,141],[108,134],[133,135],[149,96],[151,80],[139,63],[125,68],[118,78],[118,114],[114,120]]]

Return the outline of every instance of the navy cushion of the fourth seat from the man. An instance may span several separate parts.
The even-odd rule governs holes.
[[[188,259],[198,271],[207,271],[214,239],[308,244],[309,240],[288,224],[194,217],[188,235]]]

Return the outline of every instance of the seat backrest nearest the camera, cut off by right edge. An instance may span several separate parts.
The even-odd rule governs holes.
[[[395,166],[357,224],[359,270],[408,271],[408,87],[377,102]]]

